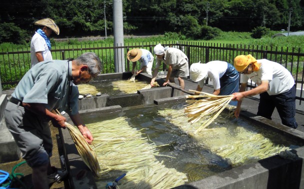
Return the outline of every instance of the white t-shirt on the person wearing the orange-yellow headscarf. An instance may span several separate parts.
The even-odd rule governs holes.
[[[269,95],[281,94],[293,87],[294,79],[282,65],[267,59],[256,61],[260,63],[259,70],[251,74],[240,74],[241,83],[247,83],[248,79],[251,79],[254,83],[260,85],[262,80],[268,80],[269,89],[267,93]]]

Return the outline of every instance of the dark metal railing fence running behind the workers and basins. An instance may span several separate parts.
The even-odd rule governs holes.
[[[67,47],[57,47],[52,49],[53,59],[64,60],[67,58],[75,58],[84,52],[94,52],[98,55],[103,65],[102,73],[114,73],[114,50],[117,49],[117,56],[132,48],[144,48],[152,52],[153,47],[161,43],[163,46],[170,46],[182,50],[189,59],[189,65],[195,62],[209,62],[212,60],[221,60],[233,64],[233,58],[240,54],[251,54],[256,59],[266,58],[268,60],[278,62],[283,65],[293,76],[294,81],[299,89],[296,99],[301,103],[303,98],[303,61],[304,53],[300,53],[300,49],[292,48],[283,50],[278,47],[268,46],[250,46],[250,45],[231,45],[220,43],[204,43],[204,42],[188,42],[188,41],[159,41],[159,42],[143,42],[143,43],[127,43],[124,46],[117,45],[69,45]],[[132,64],[125,58],[125,71],[131,70]],[[155,66],[155,64],[153,65]],[[0,76],[3,89],[13,87],[26,71],[30,68],[30,51],[17,50],[0,52]],[[137,64],[137,68],[139,65]],[[163,70],[166,68],[163,67]],[[255,84],[248,84],[249,88],[255,87]]]

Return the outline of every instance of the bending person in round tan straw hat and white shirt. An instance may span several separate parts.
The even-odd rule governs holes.
[[[129,50],[126,54],[126,57],[129,61],[133,62],[132,64],[132,74],[135,73],[136,61],[140,62],[140,70],[136,71],[136,75],[139,73],[147,73],[152,75],[152,65],[154,57],[152,53],[146,49],[134,48]]]

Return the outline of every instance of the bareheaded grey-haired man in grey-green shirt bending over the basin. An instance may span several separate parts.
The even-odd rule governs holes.
[[[48,189],[67,172],[50,166],[52,140],[48,122],[65,128],[65,117],[51,110],[65,110],[80,133],[91,144],[93,137],[78,113],[77,84],[87,83],[101,71],[95,53],[87,52],[69,60],[46,60],[31,67],[7,102],[4,115],[22,158],[32,168],[34,189]]]

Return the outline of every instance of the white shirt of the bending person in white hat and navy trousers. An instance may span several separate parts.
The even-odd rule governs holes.
[[[219,79],[226,72],[228,63],[224,62],[224,61],[215,60],[215,61],[210,61],[210,62],[206,63],[206,66],[208,68],[208,72],[207,72],[208,78],[212,79],[214,90],[219,89],[220,88]],[[204,80],[198,81],[197,84],[200,87],[203,87]]]

